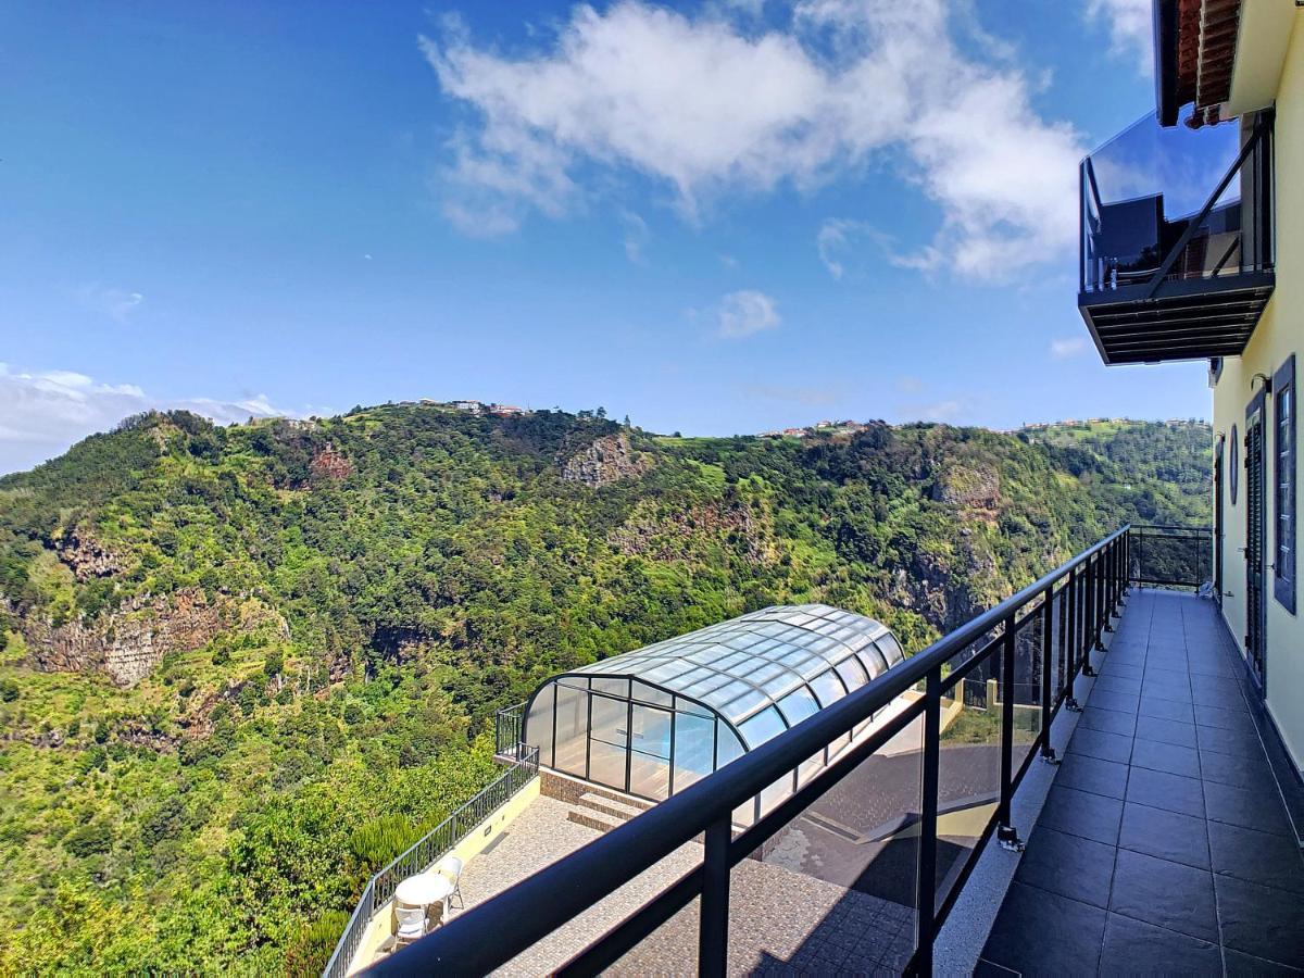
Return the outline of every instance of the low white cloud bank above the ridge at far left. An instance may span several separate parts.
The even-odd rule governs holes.
[[[219,424],[295,416],[266,395],[241,400],[166,399],[134,383],[103,383],[73,370],[10,372],[0,364],[0,472],[30,468],[95,432],[150,408],[186,408]]]

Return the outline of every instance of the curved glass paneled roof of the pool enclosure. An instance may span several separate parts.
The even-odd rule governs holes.
[[[751,748],[902,657],[888,627],[872,618],[820,604],[775,605],[567,675],[630,678],[694,699],[728,720]],[[627,695],[640,699],[638,686]]]

